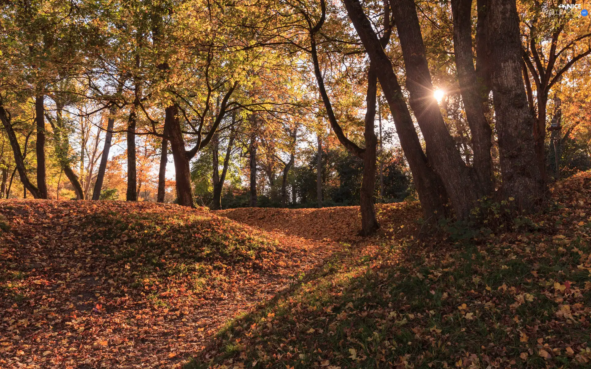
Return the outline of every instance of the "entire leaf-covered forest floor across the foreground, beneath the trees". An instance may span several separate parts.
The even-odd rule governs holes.
[[[429,236],[379,205],[369,238],[356,207],[1,200],[0,367],[583,367],[590,198]]]

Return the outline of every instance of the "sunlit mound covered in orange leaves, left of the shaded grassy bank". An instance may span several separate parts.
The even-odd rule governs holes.
[[[178,367],[333,244],[206,209],[0,201],[0,367]]]

